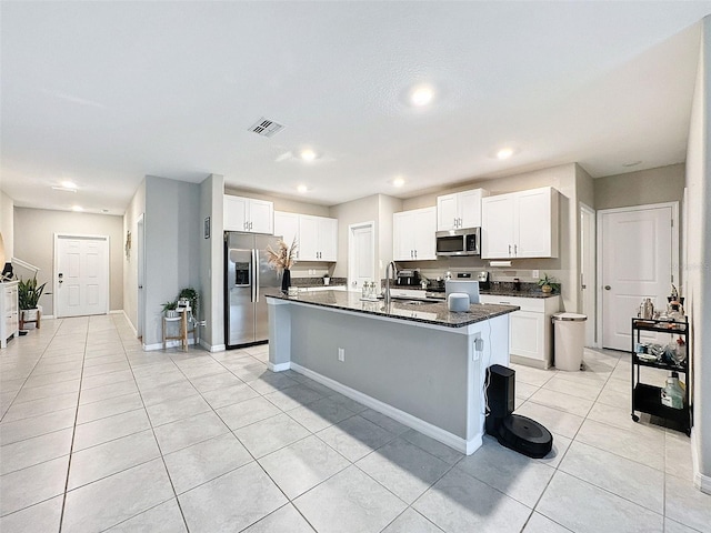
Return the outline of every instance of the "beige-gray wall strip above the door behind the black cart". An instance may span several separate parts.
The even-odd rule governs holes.
[[[680,202],[684,195],[684,164],[609,175],[594,180],[594,208],[614,209]]]

